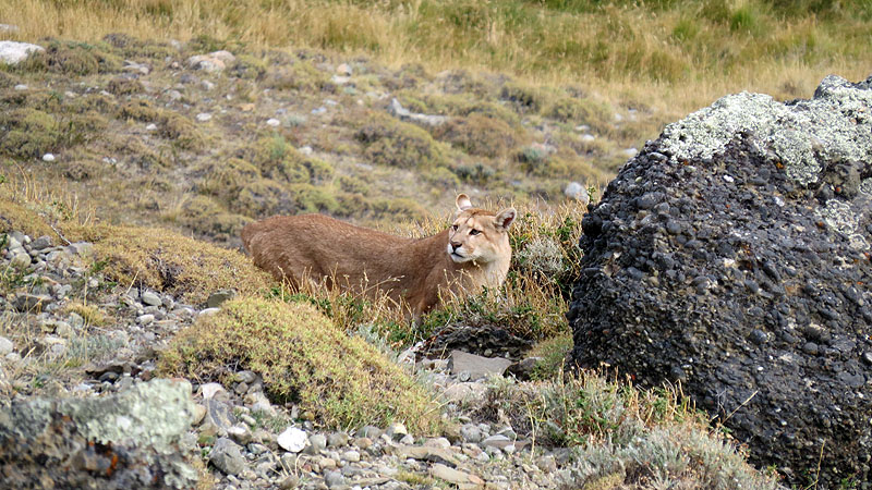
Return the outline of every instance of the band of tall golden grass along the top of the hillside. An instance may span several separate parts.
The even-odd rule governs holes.
[[[573,84],[686,113],[739,90],[808,97],[872,66],[870,2],[809,0],[2,0],[2,36],[207,35]]]

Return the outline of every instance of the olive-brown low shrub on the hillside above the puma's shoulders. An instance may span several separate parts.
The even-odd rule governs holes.
[[[393,118],[376,114],[355,134],[370,161],[401,169],[429,169],[447,163],[445,151],[431,135]]]

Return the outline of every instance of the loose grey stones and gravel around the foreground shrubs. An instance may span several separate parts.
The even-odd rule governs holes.
[[[94,264],[92,254],[88,243],[8,235],[0,265],[4,404],[111,397],[144,385],[155,379],[156,356],[168,340],[230,296],[217,291],[205,305],[185,305],[112,284],[85,267]],[[568,450],[543,451],[505,420],[470,416],[468,408],[488,390],[487,377],[511,364],[460,351],[446,359],[422,357],[416,371],[445,397],[446,416],[461,422],[437,438],[409,433],[400,422],[319,430],[300,421],[296,406],[271,404],[252,371],[238,372],[229,385],[191,380],[193,420],[180,445],[202,457],[208,473],[202,481],[210,478],[215,488],[558,488]],[[10,458],[3,454],[0,462]]]

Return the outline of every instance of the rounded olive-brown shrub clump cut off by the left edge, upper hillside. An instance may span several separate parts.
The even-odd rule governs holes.
[[[62,133],[56,118],[36,109],[0,113],[0,155],[39,158],[57,150]]]

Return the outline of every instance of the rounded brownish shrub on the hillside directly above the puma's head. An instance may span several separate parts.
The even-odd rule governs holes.
[[[488,158],[506,156],[517,144],[517,133],[505,121],[482,114],[448,121],[434,131],[438,139],[463,151]]]

